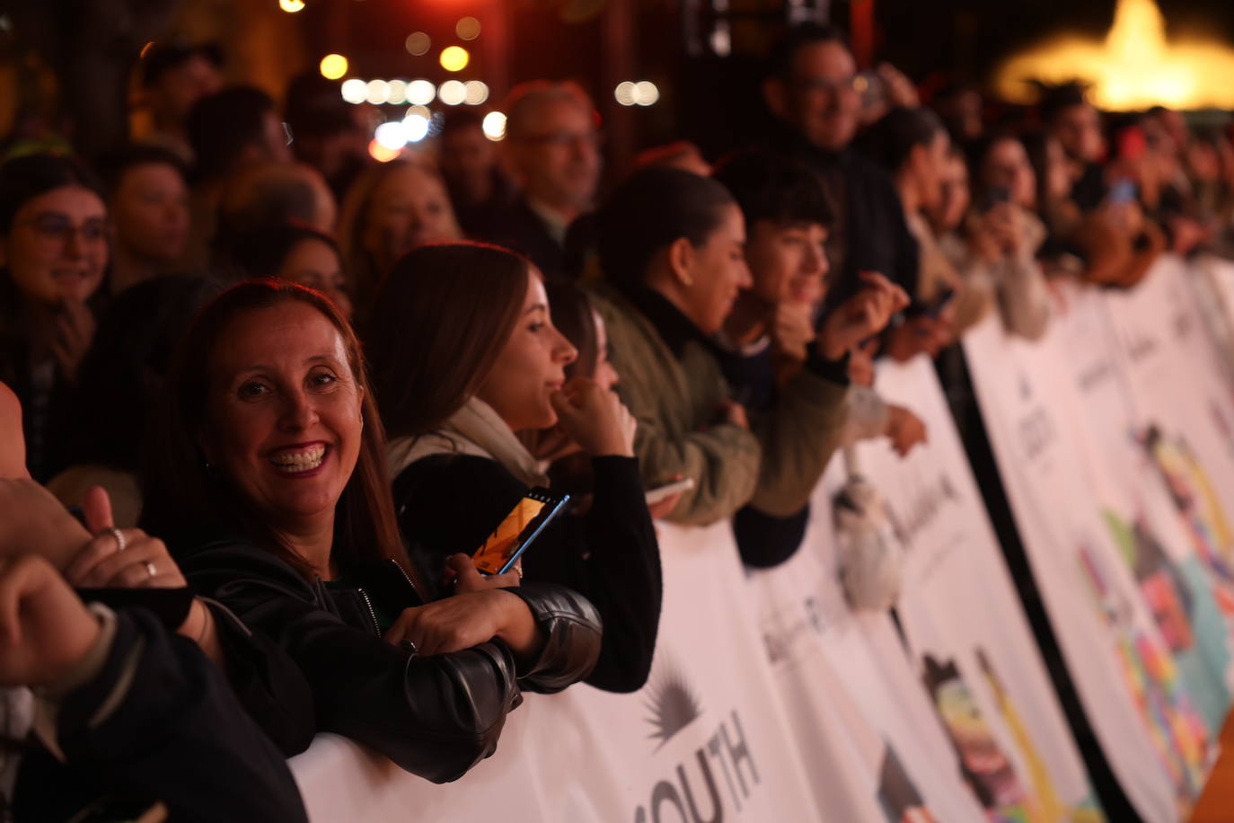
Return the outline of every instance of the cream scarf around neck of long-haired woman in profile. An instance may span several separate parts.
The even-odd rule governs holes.
[[[492,406],[470,397],[437,431],[396,437],[386,445],[390,476],[433,454],[470,454],[496,460],[526,486],[547,486],[548,476]]]

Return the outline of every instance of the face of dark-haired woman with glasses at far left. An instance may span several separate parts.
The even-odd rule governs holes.
[[[102,284],[107,265],[107,210],[89,189],[52,189],[17,210],[2,252],[26,300],[84,302]]]

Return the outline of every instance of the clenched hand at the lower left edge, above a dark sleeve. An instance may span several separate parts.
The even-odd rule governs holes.
[[[0,684],[60,681],[97,638],[99,621],[46,558],[0,559]]]

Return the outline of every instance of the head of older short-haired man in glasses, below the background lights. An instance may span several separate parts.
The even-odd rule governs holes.
[[[561,274],[565,233],[591,209],[600,181],[595,105],[575,83],[534,80],[506,102],[505,159],[520,189],[476,234]]]

